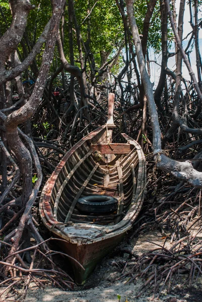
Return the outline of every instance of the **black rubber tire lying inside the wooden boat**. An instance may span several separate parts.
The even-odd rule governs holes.
[[[87,213],[111,213],[118,208],[118,200],[106,195],[92,195],[79,198],[77,208]]]

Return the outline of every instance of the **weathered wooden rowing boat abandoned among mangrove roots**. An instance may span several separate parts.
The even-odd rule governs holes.
[[[40,199],[45,226],[61,241],[82,284],[124,237],[145,195],[146,164],[140,145],[126,134],[112,143],[114,94],[105,125],[82,138],[47,181]]]

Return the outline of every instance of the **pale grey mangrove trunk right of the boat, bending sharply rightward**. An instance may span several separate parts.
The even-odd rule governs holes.
[[[166,2],[168,2],[166,0]],[[192,186],[202,187],[202,173],[193,169],[189,162],[177,162],[171,160],[161,150],[161,132],[159,127],[158,114],[154,102],[153,86],[150,82],[149,75],[146,70],[145,60],[141,47],[141,40],[138,33],[138,27],[133,11],[133,0],[126,0],[127,14],[129,19],[130,28],[132,31],[132,38],[136,53],[138,57],[141,78],[144,84],[145,93],[148,101],[149,113],[151,117],[152,130],[153,130],[153,152],[156,160],[157,167],[163,171],[173,174],[179,179],[186,180]]]

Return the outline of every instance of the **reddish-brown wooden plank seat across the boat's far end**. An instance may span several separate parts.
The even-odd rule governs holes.
[[[102,143],[91,145],[91,150],[99,151],[101,154],[129,154],[131,146],[129,143]]]

